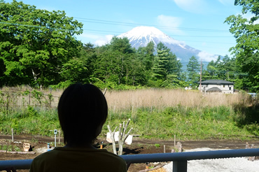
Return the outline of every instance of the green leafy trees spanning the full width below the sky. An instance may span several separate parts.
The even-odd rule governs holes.
[[[110,43],[94,46],[76,36],[83,24],[64,11],[37,9],[22,1],[0,0],[0,87],[66,87],[71,83],[93,83],[98,87],[129,89],[168,87],[197,89],[202,80],[220,79],[235,83],[236,89],[259,90],[258,3],[235,1],[250,20],[231,15],[237,45],[234,57],[219,56],[208,64],[190,57],[187,68],[163,43],[132,48],[127,38],[113,37]]]

